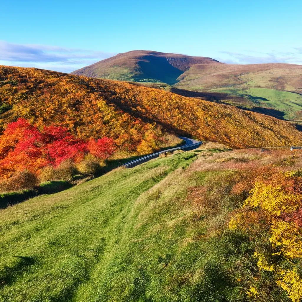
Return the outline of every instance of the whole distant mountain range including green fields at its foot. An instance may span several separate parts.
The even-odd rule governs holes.
[[[154,87],[180,95],[223,101],[279,119],[302,121],[302,65],[225,64],[207,57],[134,50],[72,74],[148,86],[155,82],[158,84]]]

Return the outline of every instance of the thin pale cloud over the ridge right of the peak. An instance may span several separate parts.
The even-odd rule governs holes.
[[[293,51],[280,52],[272,50],[269,53],[251,52],[236,53],[221,51],[220,60],[230,64],[257,64],[257,63],[292,63],[302,64],[302,47]]]

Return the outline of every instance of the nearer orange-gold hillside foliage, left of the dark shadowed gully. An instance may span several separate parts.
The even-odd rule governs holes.
[[[162,127],[124,110],[124,105],[119,104],[120,93],[123,92],[105,87],[98,80],[1,66],[0,102],[11,109],[0,115],[0,133],[7,124],[22,117],[40,130],[56,124],[69,129],[76,138],[111,138],[119,149],[130,153],[145,152],[142,148],[137,151],[137,147],[146,140],[149,147],[152,145],[147,151],[152,152],[163,141]],[[154,144],[148,143],[150,133]],[[65,151],[58,152],[63,156]]]

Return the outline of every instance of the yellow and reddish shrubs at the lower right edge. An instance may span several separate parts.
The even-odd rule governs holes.
[[[239,229],[257,242],[259,270],[271,271],[292,301],[302,299],[302,172],[279,172],[256,182],[230,229]]]

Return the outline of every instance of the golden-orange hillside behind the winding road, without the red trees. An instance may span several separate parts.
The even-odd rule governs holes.
[[[2,127],[24,117],[39,127],[59,123],[79,137],[107,136],[134,148],[149,130],[160,136],[161,129],[236,148],[302,145],[302,133],[289,122],[154,88],[5,66],[0,83],[2,106],[8,106]]]

